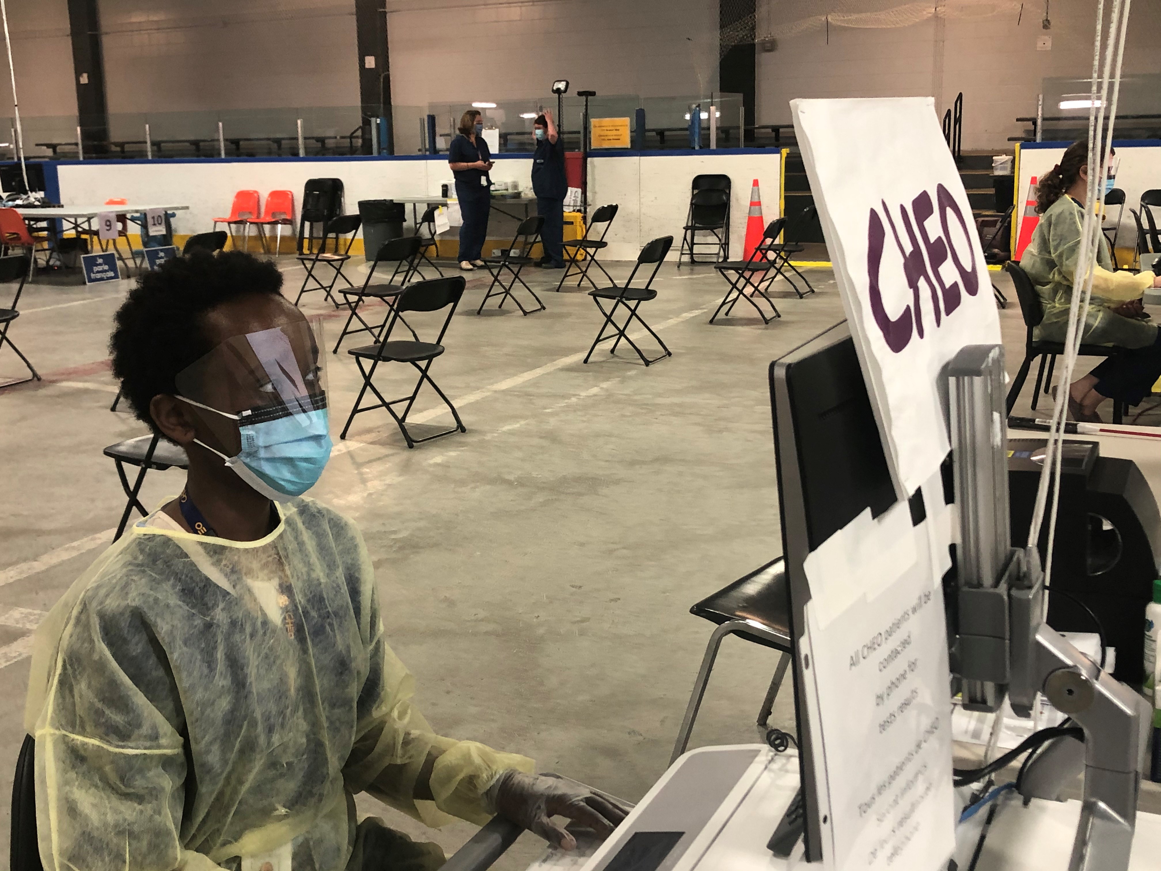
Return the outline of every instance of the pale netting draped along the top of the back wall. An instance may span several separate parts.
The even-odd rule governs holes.
[[[722,52],[731,45],[776,39],[825,27],[908,27],[943,15],[986,19],[1018,15],[1021,0],[720,0]],[[751,10],[752,9],[752,10]]]

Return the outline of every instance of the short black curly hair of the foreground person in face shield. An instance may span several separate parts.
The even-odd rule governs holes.
[[[243,251],[197,251],[147,272],[117,309],[109,353],[113,374],[137,418],[157,432],[150,403],[175,394],[178,373],[212,350],[203,316],[241,296],[282,291],[282,273],[271,260]]]

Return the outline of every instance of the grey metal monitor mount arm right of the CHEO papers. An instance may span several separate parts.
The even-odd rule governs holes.
[[[1069,871],[1126,871],[1147,743],[1148,705],[1045,622],[1034,546],[1011,547],[1003,426],[1003,347],[973,345],[949,363],[947,406],[959,509],[958,638],[964,707],[1022,717],[1037,692],[1084,730],[1084,798]],[[1026,798],[1059,800],[1081,747],[1058,740],[1029,766]]]

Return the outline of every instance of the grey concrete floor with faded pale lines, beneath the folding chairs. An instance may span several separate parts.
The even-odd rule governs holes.
[[[301,269],[293,260],[282,268],[296,291]],[[611,266],[619,278],[628,269]],[[798,300],[779,290],[780,321],[711,326],[722,280],[708,267],[666,265],[642,314],[673,357],[648,369],[626,348],[580,363],[576,354],[600,323],[584,293],[542,293],[548,310],[529,317],[477,317],[485,281],[473,278],[432,368],[467,434],[409,451],[385,412],[356,418],[349,449],[337,452],[311,495],[361,526],[388,636],[416,672],[418,704],[437,729],[527,754],[541,770],[630,800],[664,771],[711,632],[690,605],[781,550],[766,367],[843,317],[830,271],[808,275],[819,293]],[[547,290],[556,278],[532,281]],[[101,449],[145,431],[108,410],[116,387],[106,345],[128,286],[39,278],[10,333],[45,380],[0,391],[0,449],[9,458],[0,624],[20,624],[0,626],[5,796],[23,737],[36,619],[12,609],[48,611],[111,539],[124,497]],[[324,316],[323,344],[333,346],[341,323],[333,309],[320,294],[303,308]],[[1001,319],[1018,363],[1018,309]],[[337,439],[360,382],[345,353],[327,359]],[[0,354],[0,380],[19,365]],[[411,386],[397,383],[401,394]],[[417,409],[438,405],[425,394]],[[181,484],[179,472],[151,473],[143,501],[159,504]],[[776,661],[726,642],[692,746],[755,740]],[[773,722],[791,727],[792,708],[787,684]],[[463,823],[431,833],[373,800],[359,804],[448,852],[474,832]],[[7,816],[6,808],[0,856]],[[539,851],[525,836],[497,868],[524,868]]]

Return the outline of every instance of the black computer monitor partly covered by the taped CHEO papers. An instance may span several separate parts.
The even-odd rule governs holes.
[[[815,748],[808,726],[799,650],[810,588],[803,562],[812,550],[866,509],[879,517],[895,504],[874,411],[854,343],[842,322],[770,363],[778,503],[791,596],[794,710],[806,802],[808,862],[822,858]]]

